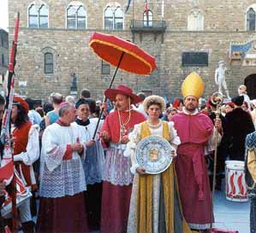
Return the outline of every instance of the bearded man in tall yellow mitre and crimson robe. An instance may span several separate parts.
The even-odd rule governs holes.
[[[185,79],[182,84],[185,107],[182,113],[171,119],[181,139],[175,161],[176,173],[184,217],[191,229],[207,230],[213,221],[213,213],[204,155],[205,147],[211,141],[214,125],[208,116],[198,111],[199,97],[204,87],[195,88],[193,84],[189,84],[192,79],[192,83],[203,85],[202,80],[197,73],[188,75],[187,79],[190,81]],[[216,125],[221,127],[219,120]]]

